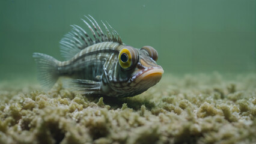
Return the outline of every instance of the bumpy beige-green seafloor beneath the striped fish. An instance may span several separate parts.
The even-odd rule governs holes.
[[[256,143],[256,74],[165,74],[132,98],[0,83],[0,143]]]

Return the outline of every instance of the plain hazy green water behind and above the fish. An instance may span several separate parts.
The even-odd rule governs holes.
[[[256,1],[0,1],[0,80],[36,77],[33,52],[63,60],[59,40],[90,14],[124,43],[153,46],[165,73],[255,73]],[[88,31],[89,32],[89,31]]]

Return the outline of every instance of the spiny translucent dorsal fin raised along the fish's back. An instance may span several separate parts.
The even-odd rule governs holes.
[[[112,26],[108,24],[108,29],[108,26],[106,26],[105,23],[102,22],[103,26],[106,29],[105,34],[100,28],[99,24],[96,22],[96,20],[92,16],[88,16],[89,17],[85,17],[90,21],[91,25],[84,19],[82,19],[82,21],[85,23],[85,25],[87,25],[88,29],[90,29],[91,34],[93,34],[93,38],[90,37],[90,35],[88,35],[87,32],[80,26],[71,25],[72,31],[64,35],[64,38],[62,38],[59,42],[61,48],[61,56],[64,57],[66,60],[71,59],[73,56],[76,55],[76,53],[80,52],[82,49],[85,49],[86,47],[96,43],[113,41],[119,44],[123,44],[120,36],[117,34],[117,31],[115,31]]]

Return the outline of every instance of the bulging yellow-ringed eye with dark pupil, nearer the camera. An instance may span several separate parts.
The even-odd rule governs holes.
[[[138,52],[132,47],[124,47],[118,55],[118,62],[124,69],[132,67],[138,61]]]

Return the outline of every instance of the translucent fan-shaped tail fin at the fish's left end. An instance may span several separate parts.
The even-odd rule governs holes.
[[[37,63],[38,80],[40,84],[47,89],[52,88],[59,77],[59,61],[43,53],[33,53],[33,58],[35,58],[35,62]]]

